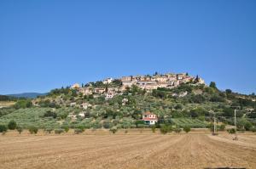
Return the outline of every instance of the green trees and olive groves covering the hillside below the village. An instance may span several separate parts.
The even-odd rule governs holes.
[[[95,82],[83,86],[108,89],[120,87],[121,83]],[[8,125],[14,120],[24,128],[148,127],[141,119],[143,112],[150,111],[158,115],[156,127],[166,124],[203,128],[211,124],[212,112],[218,122],[233,125],[237,109],[238,129],[250,130],[256,126],[255,98],[255,94],[233,93],[230,89],[219,91],[214,82],[209,87],[189,82],[172,89],[154,89],[150,93],[133,85],[113,99],[94,93],[83,96],[79,90],[61,87],[38,99],[21,99],[11,108],[0,109],[0,124]],[[87,109],[81,107],[83,103],[88,104]]]

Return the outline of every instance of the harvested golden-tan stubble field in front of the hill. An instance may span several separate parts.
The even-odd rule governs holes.
[[[256,135],[0,136],[0,168],[256,168]]]

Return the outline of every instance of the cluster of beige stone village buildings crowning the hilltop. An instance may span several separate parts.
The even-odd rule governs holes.
[[[108,78],[102,82],[103,84],[111,84],[113,80],[113,78]],[[132,85],[136,85],[150,92],[158,87],[172,88],[186,82],[195,82],[196,84],[205,83],[200,77],[189,76],[186,73],[167,73],[154,76],[123,76],[119,80],[122,82],[120,87],[111,87],[111,85],[109,85],[109,87],[92,87],[90,85],[87,87],[79,87],[79,84],[76,83],[71,88],[76,88],[79,93],[84,95],[104,94],[105,99],[112,99],[114,95],[125,92],[126,88],[132,87]]]

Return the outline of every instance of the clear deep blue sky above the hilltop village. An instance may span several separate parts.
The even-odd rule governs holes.
[[[256,1],[0,1],[0,93],[155,71],[256,92]]]

